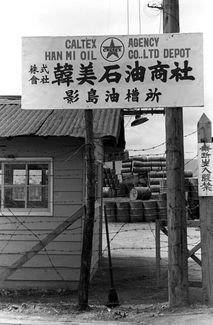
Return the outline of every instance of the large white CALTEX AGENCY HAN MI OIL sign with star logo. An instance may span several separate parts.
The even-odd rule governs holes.
[[[22,108],[203,106],[202,33],[24,37]]]

